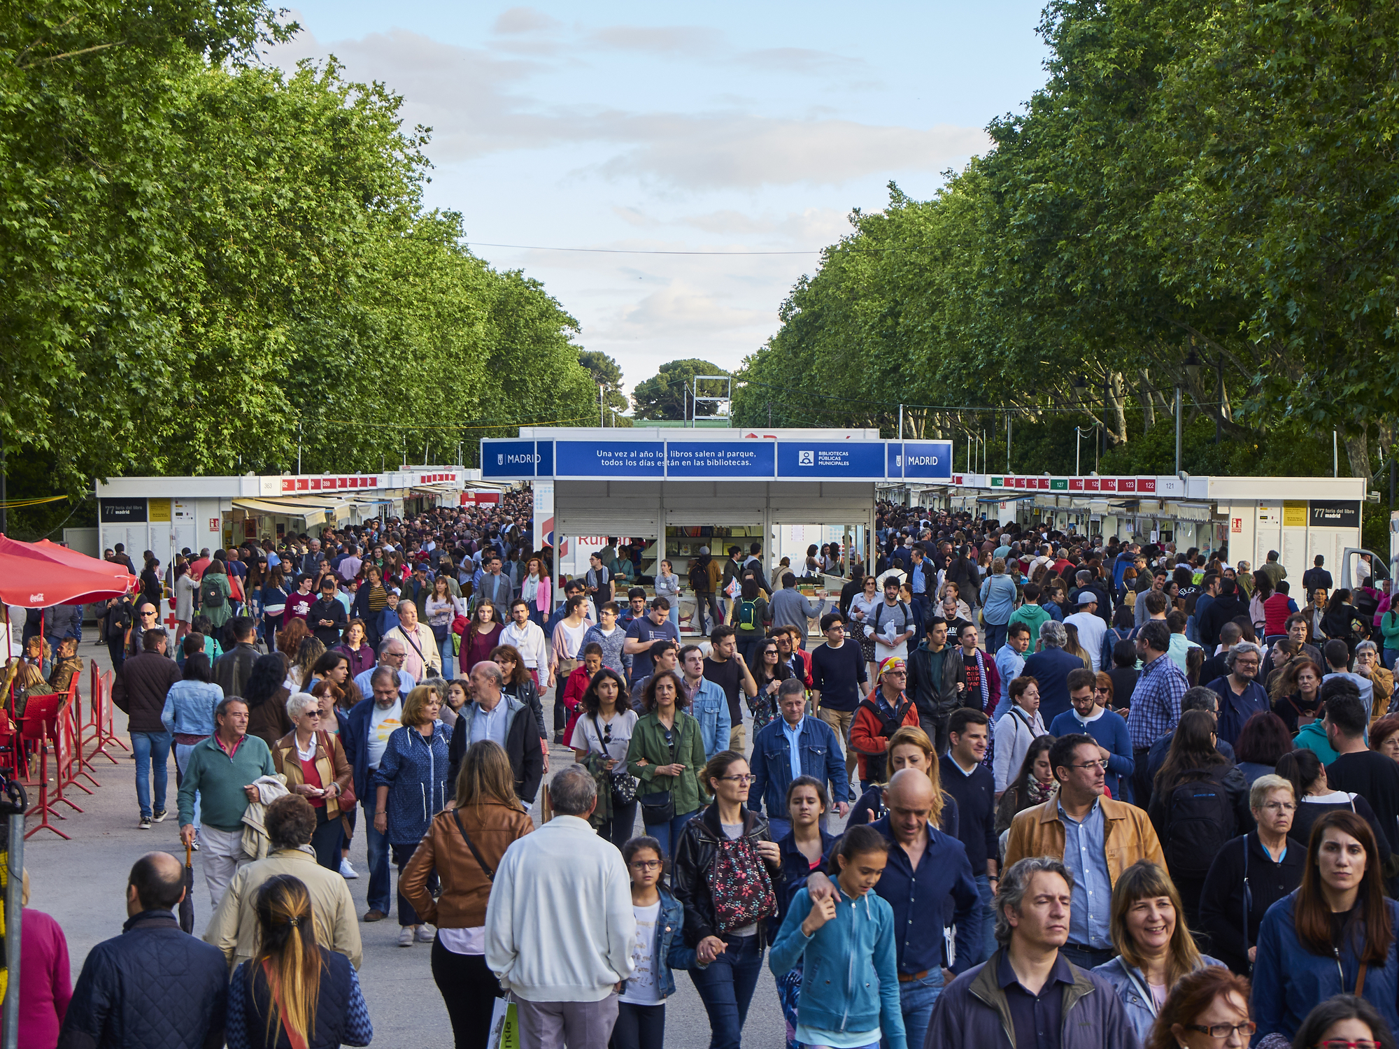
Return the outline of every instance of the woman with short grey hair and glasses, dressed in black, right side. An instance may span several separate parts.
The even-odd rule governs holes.
[[[1258,828],[1220,849],[1200,888],[1199,930],[1210,951],[1241,976],[1254,965],[1267,908],[1302,884],[1307,863],[1307,845],[1291,835],[1293,785],[1259,776],[1248,800]]]

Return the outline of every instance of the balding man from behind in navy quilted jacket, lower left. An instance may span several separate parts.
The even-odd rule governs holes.
[[[127,922],[83,962],[60,1049],[224,1043],[228,968],[222,951],[180,930],[172,912],[183,898],[179,860],[148,852],[136,862],[126,885]]]

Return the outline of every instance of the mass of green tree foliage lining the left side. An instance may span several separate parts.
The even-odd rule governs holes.
[[[255,0],[0,8],[0,441],[94,476],[378,470],[586,422],[576,322],[428,210],[429,129],[260,64]],[[450,448],[450,453],[446,449]]]

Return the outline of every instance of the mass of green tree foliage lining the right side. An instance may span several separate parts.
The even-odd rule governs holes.
[[[1039,32],[1048,83],[993,151],[928,201],[891,185],[796,284],[740,422],[891,434],[905,404],[905,434],[1009,421],[1058,462],[1101,427],[1135,469],[1179,386],[1223,438],[1186,469],[1329,470],[1336,428],[1371,476],[1399,393],[1399,8],[1052,0]]]

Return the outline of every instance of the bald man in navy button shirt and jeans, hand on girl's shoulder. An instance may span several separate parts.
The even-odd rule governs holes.
[[[982,906],[977,880],[971,874],[967,846],[937,829],[942,797],[922,769],[894,773],[884,792],[888,815],[873,827],[891,843],[888,866],[874,891],[894,911],[898,993],[908,1043],[921,1046],[933,1014],[933,1004],[954,973],[965,972],[981,943]],[[816,901],[839,895],[824,874],[806,883]],[[943,966],[943,913],[949,899],[957,923],[957,962]]]

